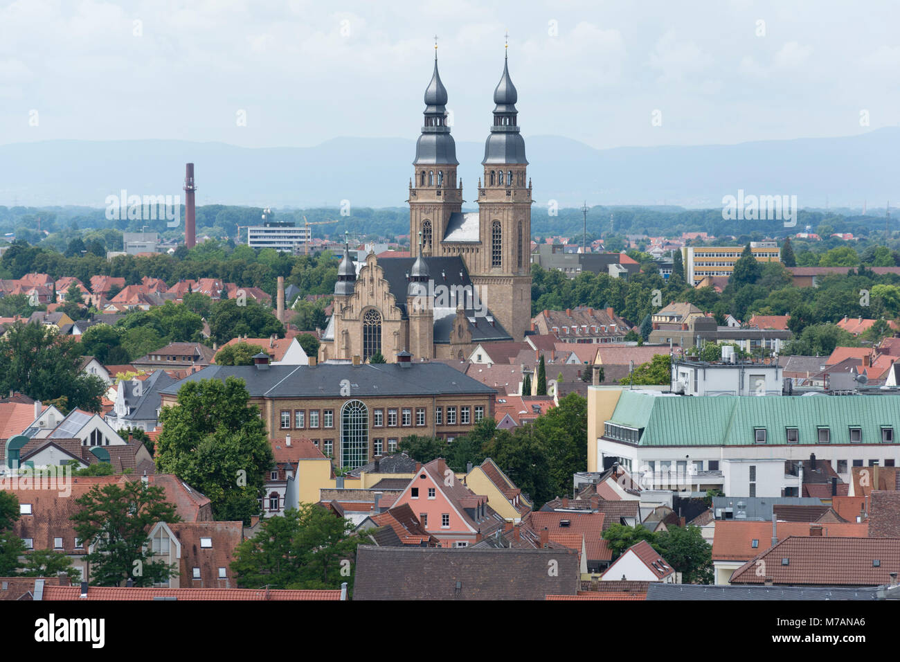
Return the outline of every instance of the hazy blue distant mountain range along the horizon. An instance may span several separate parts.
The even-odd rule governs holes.
[[[846,138],[738,145],[594,150],[557,136],[526,136],[536,204],[715,208],[739,189],[797,195],[823,208],[900,202],[900,127]],[[464,199],[481,177],[483,144],[457,142]],[[107,195],[176,195],[196,164],[197,204],[401,206],[415,141],[338,138],[311,148],[247,149],[218,142],[43,141],[0,146],[0,204],[105,206]]]

